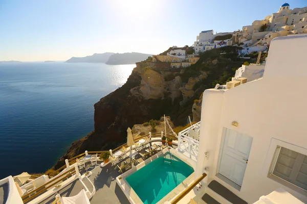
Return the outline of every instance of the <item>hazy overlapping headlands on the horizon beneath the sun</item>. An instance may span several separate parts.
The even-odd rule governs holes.
[[[119,64],[135,64],[136,62],[140,62],[146,60],[148,57],[152,57],[149,54],[143,53],[102,53],[86,57],[72,57],[71,59],[65,61],[70,63],[79,63],[79,62],[87,62],[87,63],[106,63],[110,65],[119,65]]]

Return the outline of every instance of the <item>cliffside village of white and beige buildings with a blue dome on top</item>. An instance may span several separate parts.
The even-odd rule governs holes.
[[[284,3],[276,13],[266,16],[263,20],[255,20],[252,25],[246,25],[242,30],[215,34],[213,30],[202,31],[192,46],[173,46],[167,53],[153,55],[152,62],[170,62],[168,68],[185,68],[195,64],[200,59],[200,53],[223,46],[242,47],[239,55],[244,57],[253,52],[267,52],[271,41],[276,37],[301,34],[307,34],[307,7],[290,9],[290,5]],[[232,79],[234,82],[220,86],[220,89],[232,88],[261,78],[264,68],[265,63],[243,65],[236,71]]]

